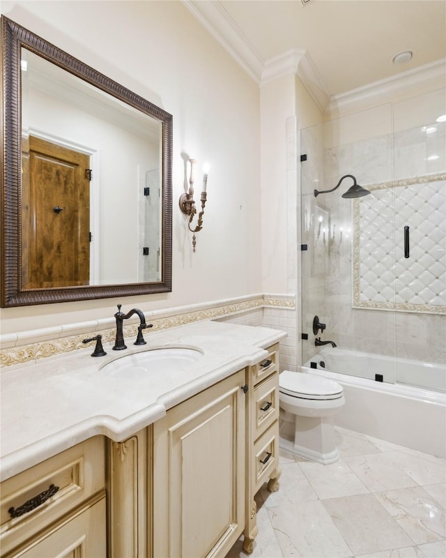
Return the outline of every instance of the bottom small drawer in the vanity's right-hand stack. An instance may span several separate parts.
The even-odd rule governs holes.
[[[254,444],[252,453],[252,494],[258,492],[261,485],[272,474],[279,464],[279,433],[277,422],[273,423],[268,430]]]

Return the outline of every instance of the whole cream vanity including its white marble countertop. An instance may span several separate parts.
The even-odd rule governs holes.
[[[132,378],[130,387],[85,351],[3,370],[3,558],[224,557],[242,534],[251,552],[254,495],[266,481],[278,488],[284,336],[216,322],[153,333],[145,349],[197,347],[203,358],[181,375]],[[59,393],[53,412],[35,406],[34,414],[28,391],[13,395],[33,376],[36,397],[48,385]],[[47,409],[50,400],[41,401]]]

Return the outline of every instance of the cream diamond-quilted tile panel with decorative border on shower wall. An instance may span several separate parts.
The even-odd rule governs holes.
[[[355,200],[353,209],[353,306],[445,312],[445,175],[367,188],[371,195]]]

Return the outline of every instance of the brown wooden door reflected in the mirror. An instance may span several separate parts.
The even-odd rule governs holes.
[[[22,141],[24,289],[89,285],[89,174],[84,153],[33,136]]]

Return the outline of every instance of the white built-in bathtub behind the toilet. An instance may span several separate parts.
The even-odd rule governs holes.
[[[302,365],[302,372],[333,379],[343,386],[346,404],[334,416],[336,425],[445,458],[445,367],[421,363],[416,371],[416,364],[420,365],[406,359],[324,347]],[[395,370],[401,383],[390,383]],[[383,376],[383,382],[375,380],[376,374]]]

